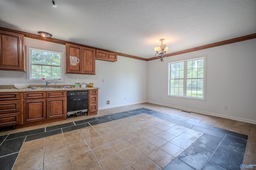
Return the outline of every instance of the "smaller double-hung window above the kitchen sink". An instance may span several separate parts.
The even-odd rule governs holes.
[[[29,47],[28,81],[63,80],[63,53]]]

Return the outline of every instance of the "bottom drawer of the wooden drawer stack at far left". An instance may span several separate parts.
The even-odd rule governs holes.
[[[0,115],[0,127],[20,124],[20,113]]]

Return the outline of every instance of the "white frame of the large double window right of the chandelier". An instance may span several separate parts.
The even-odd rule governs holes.
[[[203,78],[203,98],[197,98],[192,96],[186,96],[187,92],[187,61],[196,60],[196,59],[204,59],[204,78]],[[183,78],[183,96],[178,95],[172,95],[170,94],[170,85],[171,85],[171,64],[172,63],[179,63],[179,62],[185,62],[184,63],[184,78]],[[190,79],[190,78],[189,78]],[[193,57],[190,59],[180,60],[180,61],[174,61],[171,63],[168,63],[168,97],[176,97],[176,98],[186,98],[186,99],[193,99],[193,100],[206,100],[206,56],[201,57]]]

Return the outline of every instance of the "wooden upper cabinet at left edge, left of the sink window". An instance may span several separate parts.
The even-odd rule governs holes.
[[[24,71],[25,38],[23,34],[0,30],[0,70]]]

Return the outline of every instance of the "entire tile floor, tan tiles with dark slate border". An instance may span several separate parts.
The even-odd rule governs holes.
[[[235,170],[256,164],[256,125],[148,103],[1,132],[0,144],[0,167],[10,170]]]

